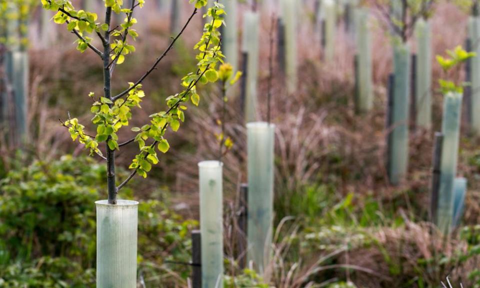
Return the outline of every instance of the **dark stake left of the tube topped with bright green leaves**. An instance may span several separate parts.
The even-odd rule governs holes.
[[[440,190],[440,174],[441,174],[441,150],[443,143],[443,134],[435,132],[435,142],[433,147],[433,171],[430,187],[430,221],[436,222],[436,211],[438,206],[438,192]]]

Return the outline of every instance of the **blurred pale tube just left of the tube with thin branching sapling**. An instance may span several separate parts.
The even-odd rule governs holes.
[[[368,26],[368,9],[354,9],[356,25],[356,49],[358,55],[358,99],[357,109],[366,112],[371,109],[373,102],[372,79],[371,79],[371,50],[370,30]]]

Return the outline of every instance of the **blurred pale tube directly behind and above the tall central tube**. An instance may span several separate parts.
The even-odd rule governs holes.
[[[242,51],[248,53],[246,72],[245,121],[256,120],[258,81],[258,13],[246,11],[243,14]]]

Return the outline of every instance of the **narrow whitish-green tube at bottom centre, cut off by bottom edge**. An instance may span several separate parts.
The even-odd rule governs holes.
[[[198,163],[203,288],[223,287],[222,166],[219,161]]]

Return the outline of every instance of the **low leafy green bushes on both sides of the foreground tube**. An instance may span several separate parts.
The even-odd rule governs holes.
[[[105,173],[93,159],[69,155],[8,172],[0,181],[1,287],[94,286],[94,201],[106,189]],[[140,201],[140,266],[190,258],[189,231],[197,222],[168,206],[167,199]],[[189,268],[176,272],[186,278]]]

